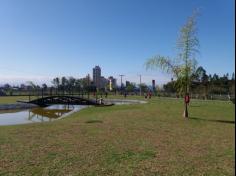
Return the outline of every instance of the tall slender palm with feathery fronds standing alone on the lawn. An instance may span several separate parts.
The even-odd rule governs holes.
[[[198,53],[199,41],[196,35],[197,12],[194,12],[181,28],[177,40],[179,54],[176,58],[165,56],[154,56],[145,63],[147,69],[160,68],[164,72],[171,74],[175,79],[175,86],[179,93],[189,95],[191,75],[196,70],[195,59]],[[188,104],[185,103],[184,117],[188,117]]]

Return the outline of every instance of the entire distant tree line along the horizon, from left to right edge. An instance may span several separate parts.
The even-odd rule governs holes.
[[[199,98],[210,99],[211,95],[230,95],[234,96],[235,94],[235,74],[229,75],[228,73],[219,76],[217,74],[207,74],[206,70],[200,66],[196,69],[194,73],[190,76],[190,92],[192,94],[199,95]],[[53,91],[54,93],[61,93],[61,94],[72,94],[72,93],[79,93],[81,91],[84,92],[97,92],[96,87],[93,85],[93,81],[87,75],[85,78],[76,79],[72,76],[70,77],[55,77],[51,85],[46,83],[42,85],[35,84],[32,81],[27,82],[26,84],[21,84],[20,86],[11,86],[10,84],[5,84],[0,87],[0,95],[11,95],[11,92],[35,92],[35,91],[45,91],[50,92]],[[145,93],[148,91],[157,91],[158,95],[161,93],[168,93],[175,94],[176,97],[183,97],[184,96],[184,89],[182,88],[181,80],[171,80],[170,82],[163,85],[163,89],[148,87],[146,84],[142,83],[141,85],[136,85],[133,82],[129,82],[126,86],[124,86],[123,90],[127,93],[131,94],[139,94],[140,88],[141,92]],[[158,89],[158,90],[157,90]],[[109,90],[109,85],[107,85],[104,90]],[[113,91],[121,91],[120,88],[113,87]],[[166,95],[166,96],[167,96]]]

